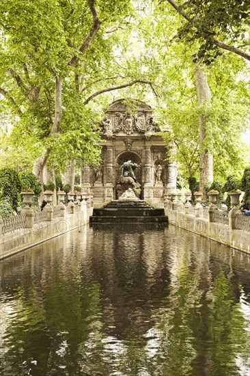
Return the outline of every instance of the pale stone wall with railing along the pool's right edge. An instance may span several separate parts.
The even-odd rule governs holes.
[[[229,214],[228,224],[214,221],[210,210],[208,218],[204,218],[203,210],[200,209],[189,208],[188,211],[193,211],[193,213],[185,211],[187,210],[184,205],[180,207],[165,202],[165,215],[169,217],[169,224],[250,254],[250,231],[235,228],[234,211]]]

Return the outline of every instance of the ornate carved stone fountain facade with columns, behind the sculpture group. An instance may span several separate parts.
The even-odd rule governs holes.
[[[82,187],[93,192],[95,207],[121,196],[121,166],[126,161],[139,165],[134,170],[137,197],[155,207],[164,206],[168,187],[176,189],[176,174],[172,172],[169,179],[169,167],[173,171],[176,165],[170,165],[163,137],[156,135],[159,131],[150,105],[125,99],[109,105],[100,124],[102,164],[99,169],[83,167]]]

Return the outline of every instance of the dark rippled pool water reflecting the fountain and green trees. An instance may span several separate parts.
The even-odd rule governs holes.
[[[0,262],[0,375],[250,375],[250,256],[81,228]]]

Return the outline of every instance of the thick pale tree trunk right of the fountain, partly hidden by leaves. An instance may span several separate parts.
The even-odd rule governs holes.
[[[208,86],[208,79],[205,73],[197,68],[195,70],[195,86],[197,92],[197,100],[199,107],[202,107],[206,102],[210,102],[212,94]],[[205,194],[205,184],[212,183],[213,181],[213,157],[205,147],[206,144],[206,133],[211,131],[208,127],[206,116],[201,114],[199,116],[199,189]]]

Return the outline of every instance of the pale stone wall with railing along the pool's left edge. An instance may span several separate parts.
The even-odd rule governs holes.
[[[85,226],[93,214],[92,195],[65,206],[46,205],[43,211],[25,208],[20,215],[0,217],[0,260],[33,245]]]

